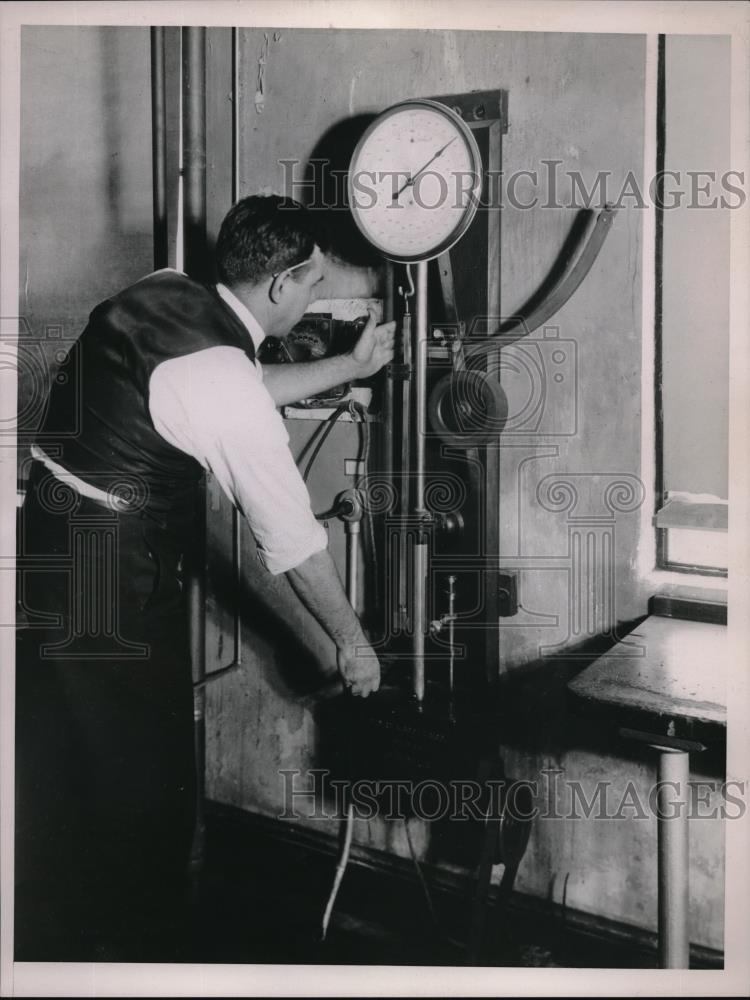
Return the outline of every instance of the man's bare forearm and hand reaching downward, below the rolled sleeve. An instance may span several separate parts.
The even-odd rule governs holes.
[[[336,644],[339,673],[352,694],[366,698],[380,686],[380,664],[346,598],[328,549],[316,552],[286,578],[310,614]]]

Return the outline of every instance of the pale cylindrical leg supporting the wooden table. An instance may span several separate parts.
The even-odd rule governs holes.
[[[687,969],[690,966],[687,805],[690,755],[683,750],[657,749],[659,966]]]

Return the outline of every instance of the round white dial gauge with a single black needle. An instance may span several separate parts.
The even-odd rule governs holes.
[[[471,130],[434,101],[375,119],[349,168],[349,205],[363,235],[395,261],[430,260],[468,228],[482,161]]]

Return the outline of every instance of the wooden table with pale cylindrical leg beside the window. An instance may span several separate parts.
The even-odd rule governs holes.
[[[628,739],[658,751],[659,964],[689,967],[690,753],[726,731],[726,628],[652,615],[575,680],[570,691]]]

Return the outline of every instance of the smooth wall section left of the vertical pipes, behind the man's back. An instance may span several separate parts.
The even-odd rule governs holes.
[[[54,370],[93,307],[153,266],[149,33],[25,27],[21,46],[19,310]],[[22,429],[46,388],[22,368]]]

